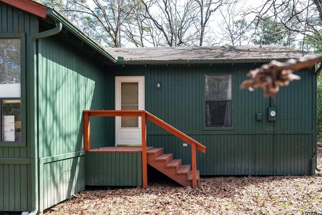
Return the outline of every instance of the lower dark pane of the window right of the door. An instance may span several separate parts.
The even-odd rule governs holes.
[[[206,126],[231,126],[231,102],[206,102]]]

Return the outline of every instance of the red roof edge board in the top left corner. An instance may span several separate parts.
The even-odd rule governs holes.
[[[30,0],[0,0],[8,5],[19,8],[41,18],[46,18],[48,7]]]

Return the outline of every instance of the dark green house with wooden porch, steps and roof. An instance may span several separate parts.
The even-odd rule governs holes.
[[[86,185],[144,187],[144,162],[184,186],[199,174],[314,174],[314,68],[274,98],[239,89],[249,70],[300,51],[104,49],[31,0],[0,0],[0,12],[0,211],[39,213]]]

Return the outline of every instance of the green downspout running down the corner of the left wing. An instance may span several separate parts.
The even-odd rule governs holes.
[[[48,13],[49,11],[49,13]],[[52,10],[47,10],[47,14],[50,14]],[[49,37],[55,34],[58,34],[61,29],[62,29],[62,23],[59,22],[58,20],[54,19],[55,21],[55,28],[39,32],[35,34],[32,38],[31,41],[33,42],[33,48],[32,48],[32,60],[34,61],[31,63],[31,71],[33,71],[33,77],[31,78],[31,95],[34,97],[33,102],[30,105],[30,109],[34,110],[31,112],[31,122],[32,122],[32,129],[33,129],[33,134],[31,135],[31,142],[34,144],[31,144],[34,148],[32,149],[32,163],[31,163],[31,171],[32,173],[32,207],[33,210],[30,212],[30,214],[37,214],[39,210],[39,180],[38,180],[38,95],[37,95],[37,83],[38,83],[38,53],[37,53],[37,40],[45,37]],[[31,57],[32,57],[31,56]]]

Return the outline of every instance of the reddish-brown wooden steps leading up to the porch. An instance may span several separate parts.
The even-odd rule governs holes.
[[[147,164],[162,172],[182,186],[192,187],[191,165],[182,165],[181,159],[173,159],[173,154],[164,154],[163,148],[147,150]],[[197,186],[199,187],[200,174],[197,170]]]

